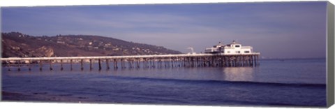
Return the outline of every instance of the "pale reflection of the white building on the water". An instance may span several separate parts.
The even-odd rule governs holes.
[[[226,67],[223,68],[224,80],[230,81],[253,81],[253,67]]]

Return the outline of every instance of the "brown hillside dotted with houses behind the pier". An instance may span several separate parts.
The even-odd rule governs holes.
[[[1,33],[2,57],[80,57],[180,54],[161,46],[89,35],[29,36]]]

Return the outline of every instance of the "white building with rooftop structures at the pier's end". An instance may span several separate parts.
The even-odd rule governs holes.
[[[251,54],[253,52],[253,47],[251,46],[242,46],[235,41],[232,43],[223,45],[219,42],[218,45],[214,45],[212,48],[206,48],[204,53],[211,54]]]

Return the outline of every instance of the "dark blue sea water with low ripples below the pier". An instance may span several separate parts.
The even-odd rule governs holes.
[[[326,106],[325,59],[261,60],[258,67],[49,71],[2,68],[2,89],[25,101],[177,105]],[[112,66],[112,65],[110,65]],[[12,100],[7,97],[3,100]]]

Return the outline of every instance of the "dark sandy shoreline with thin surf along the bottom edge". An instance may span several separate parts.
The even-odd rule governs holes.
[[[65,94],[64,94],[65,95]],[[6,92],[2,91],[1,101],[8,102],[30,102],[30,103],[96,103],[96,104],[142,104],[142,105],[180,105],[180,106],[234,106],[232,104],[217,104],[217,105],[208,105],[208,104],[179,104],[179,103],[122,103],[122,102],[98,102],[88,99],[86,97],[75,97],[75,96],[56,96],[56,95],[47,95],[47,92],[35,92],[33,94],[23,94],[20,92]],[[255,104],[240,104],[237,106],[289,106],[289,107],[315,107],[322,108],[324,106],[310,106],[310,105],[294,105],[294,104],[285,104],[285,103],[265,103],[262,105]]]

